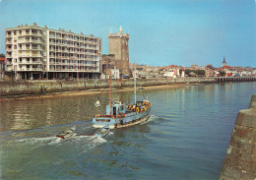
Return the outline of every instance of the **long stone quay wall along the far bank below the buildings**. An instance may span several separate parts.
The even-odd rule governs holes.
[[[138,79],[138,87],[161,86],[185,83],[215,83],[213,78],[187,77],[187,78],[162,78],[162,79]],[[112,80],[112,87],[116,89],[134,86],[134,80]],[[109,80],[80,80],[80,81],[23,81],[0,82],[0,96],[40,94],[73,90],[96,90],[109,88]]]

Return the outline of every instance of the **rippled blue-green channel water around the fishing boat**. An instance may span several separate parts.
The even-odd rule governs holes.
[[[148,122],[94,136],[104,113],[96,95],[0,101],[0,179],[219,179],[240,109],[256,83],[138,90],[152,104]],[[113,96],[132,102],[133,91]],[[78,136],[55,137],[76,126]]]

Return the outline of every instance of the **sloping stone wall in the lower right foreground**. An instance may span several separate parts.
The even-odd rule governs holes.
[[[238,112],[220,179],[256,179],[256,94],[249,109]]]

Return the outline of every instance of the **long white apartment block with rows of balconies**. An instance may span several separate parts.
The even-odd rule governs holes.
[[[6,71],[17,79],[100,78],[101,38],[36,24],[5,32]]]

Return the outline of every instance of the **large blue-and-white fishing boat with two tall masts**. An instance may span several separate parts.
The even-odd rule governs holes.
[[[149,100],[136,100],[136,78],[134,79],[134,102],[124,104],[121,101],[112,101],[111,74],[110,74],[110,104],[106,105],[105,114],[96,114],[93,118],[93,127],[110,129],[125,128],[147,121],[150,117],[151,102]],[[98,103],[97,103],[98,104]]]

